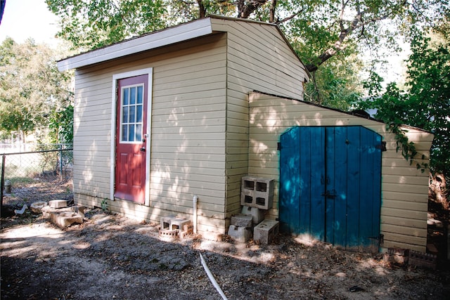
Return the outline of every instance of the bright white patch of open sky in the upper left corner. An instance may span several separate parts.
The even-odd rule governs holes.
[[[6,0],[0,24],[0,42],[11,37],[17,43],[28,38],[36,43],[58,44],[58,18],[47,8],[44,0]]]

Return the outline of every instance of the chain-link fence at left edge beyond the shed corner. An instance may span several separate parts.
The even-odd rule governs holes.
[[[0,144],[0,158],[2,214],[6,206],[73,199],[72,145]]]

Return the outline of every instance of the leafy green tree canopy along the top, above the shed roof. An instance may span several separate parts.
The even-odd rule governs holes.
[[[207,14],[252,18],[281,26],[290,41],[307,53],[309,71],[354,45],[392,44],[398,27],[442,20],[444,0],[46,0],[60,17],[59,36],[80,51],[160,30]],[[439,8],[439,10],[437,9]]]

